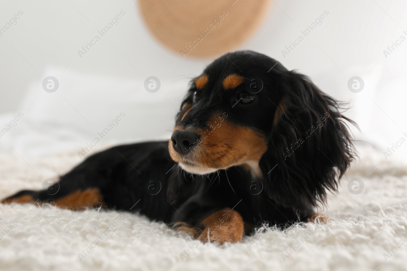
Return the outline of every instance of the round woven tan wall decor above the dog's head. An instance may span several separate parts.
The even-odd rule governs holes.
[[[139,0],[153,36],[182,57],[233,50],[263,21],[269,0]]]

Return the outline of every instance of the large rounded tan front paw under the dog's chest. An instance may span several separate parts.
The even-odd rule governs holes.
[[[202,242],[237,243],[242,240],[244,223],[242,216],[230,209],[225,208],[206,217],[202,223],[205,226],[204,231],[198,237]]]

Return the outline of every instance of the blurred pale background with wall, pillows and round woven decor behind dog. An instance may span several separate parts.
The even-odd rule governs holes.
[[[380,152],[399,142],[387,158],[405,157],[406,4],[3,1],[0,155],[17,153],[29,163],[43,153],[87,155],[111,144],[168,139],[190,78],[223,53],[249,49],[350,102],[345,115],[361,128],[352,129],[355,137]]]

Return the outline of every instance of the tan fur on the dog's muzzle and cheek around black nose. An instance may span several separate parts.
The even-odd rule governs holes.
[[[222,120],[222,121],[221,121]],[[182,156],[168,144],[171,158],[175,162],[193,164],[205,168],[229,168],[247,160],[258,162],[267,150],[265,137],[253,129],[235,125],[227,117],[214,116],[205,130],[195,130],[201,142],[193,151]],[[174,131],[182,129],[175,127]]]

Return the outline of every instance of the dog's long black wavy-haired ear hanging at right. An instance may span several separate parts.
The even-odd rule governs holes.
[[[337,190],[356,157],[345,121],[356,123],[342,116],[337,101],[302,74],[284,72],[279,92],[260,169],[271,199],[309,210],[326,202],[327,191]]]

